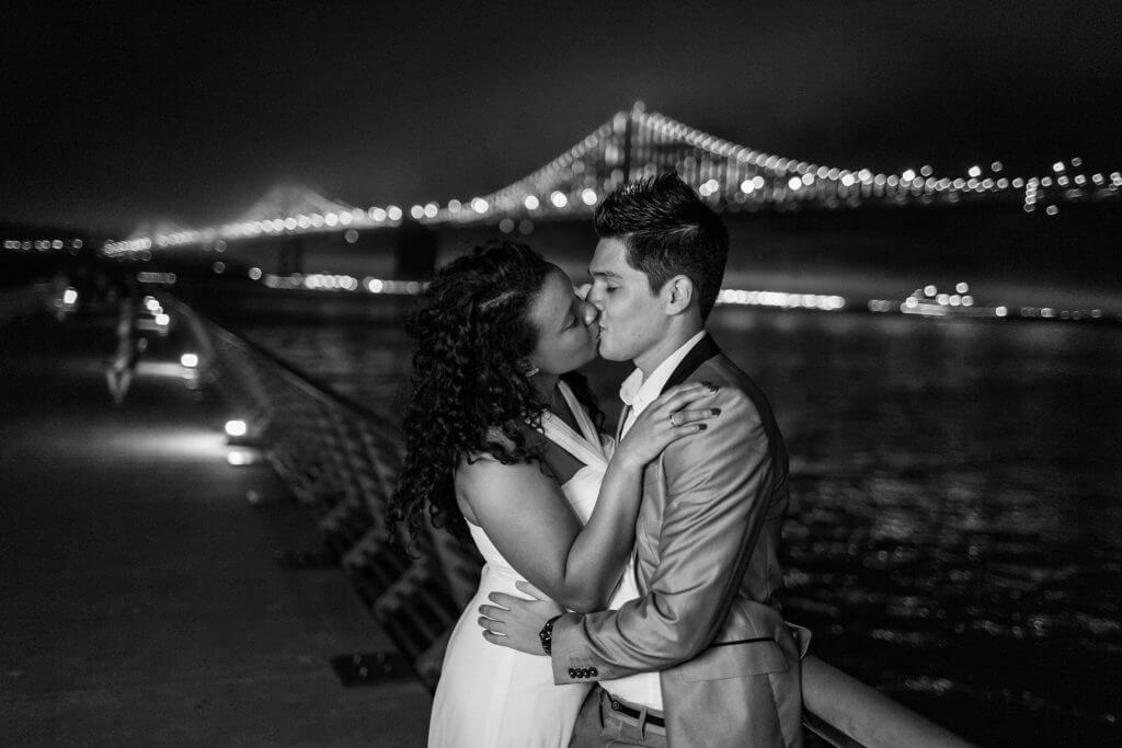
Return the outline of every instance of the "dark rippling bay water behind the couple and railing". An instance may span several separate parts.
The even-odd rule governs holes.
[[[270,306],[228,321],[396,416],[398,302]],[[1122,330],[727,307],[711,326],[789,443],[785,615],[818,654],[983,745],[1122,745]],[[614,412],[626,369],[589,373]]]

